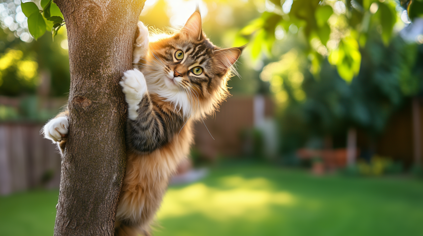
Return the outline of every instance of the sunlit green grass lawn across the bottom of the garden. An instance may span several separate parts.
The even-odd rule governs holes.
[[[0,197],[0,235],[52,235],[57,195]],[[422,236],[423,181],[219,167],[171,186],[158,222],[154,236]]]

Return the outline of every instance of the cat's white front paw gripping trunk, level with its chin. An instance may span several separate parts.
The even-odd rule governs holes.
[[[147,83],[144,75],[137,69],[131,69],[123,73],[122,81],[119,82],[128,103],[128,115],[130,119],[137,118],[138,104],[147,93]]]

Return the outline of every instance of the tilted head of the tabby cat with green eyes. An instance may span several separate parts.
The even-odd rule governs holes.
[[[213,45],[202,30],[197,9],[178,32],[150,41],[148,89],[173,102],[187,117],[211,114],[229,94],[227,80],[236,73],[233,64],[243,49]]]

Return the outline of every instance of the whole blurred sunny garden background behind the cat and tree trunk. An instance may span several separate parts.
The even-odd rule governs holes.
[[[140,20],[197,3],[215,45],[248,46],[154,235],[423,235],[423,1],[147,0]],[[0,235],[44,236],[60,156],[39,131],[67,102],[68,43],[35,41],[20,4],[0,0]]]

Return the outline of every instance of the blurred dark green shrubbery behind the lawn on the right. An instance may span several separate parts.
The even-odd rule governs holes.
[[[327,135],[345,139],[349,127],[362,128],[377,138],[392,115],[422,91],[423,45],[407,44],[399,36],[387,47],[377,32],[370,34],[366,46],[360,49],[360,72],[351,82],[342,79],[327,60],[316,75],[310,72],[313,64],[309,60],[304,56],[302,60],[293,58],[304,61],[303,66],[296,67],[295,62],[286,60],[291,55],[291,51],[284,54],[261,73],[261,78],[270,82],[278,105],[284,153]],[[304,75],[299,88],[306,96],[302,101],[295,97],[296,88],[287,86],[287,74],[296,71]]]

